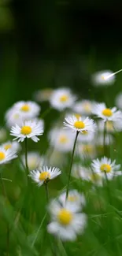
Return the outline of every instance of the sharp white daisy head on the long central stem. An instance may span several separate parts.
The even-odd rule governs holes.
[[[85,119],[79,117],[79,119],[75,116],[69,116],[65,118],[64,122],[65,128],[71,128],[73,131],[76,132],[94,132],[96,125],[94,121],[89,117]]]

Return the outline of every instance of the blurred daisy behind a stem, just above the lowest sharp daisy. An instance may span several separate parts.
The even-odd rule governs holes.
[[[25,165],[25,155],[21,157],[23,164]],[[44,164],[44,157],[39,156],[37,152],[28,152],[28,169],[31,171],[33,169],[39,169]]]

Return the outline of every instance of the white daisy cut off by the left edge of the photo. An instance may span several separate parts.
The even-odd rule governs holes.
[[[12,149],[5,150],[4,147],[0,147],[0,165],[6,164],[14,158],[17,158],[15,151]]]

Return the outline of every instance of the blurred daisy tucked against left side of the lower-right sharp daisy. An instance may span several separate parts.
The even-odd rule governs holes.
[[[90,168],[82,165],[72,166],[72,176],[76,179],[87,180],[95,185],[102,186],[102,177],[98,173],[93,173]]]

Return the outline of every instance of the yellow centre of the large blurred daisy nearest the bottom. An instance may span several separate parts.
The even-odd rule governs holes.
[[[58,221],[63,225],[68,225],[72,221],[72,213],[65,208],[61,209],[60,212],[57,214]]]

